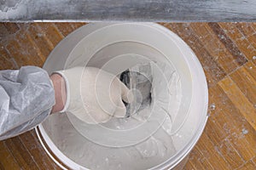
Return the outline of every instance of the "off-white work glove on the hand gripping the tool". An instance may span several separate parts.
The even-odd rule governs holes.
[[[69,111],[90,124],[125,116],[122,99],[130,103],[133,95],[118,77],[95,67],[74,67],[56,73],[64,78],[67,88],[67,102],[61,112]]]

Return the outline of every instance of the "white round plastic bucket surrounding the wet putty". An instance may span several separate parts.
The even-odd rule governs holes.
[[[171,131],[172,143],[177,151],[161,162],[155,161],[149,167],[140,169],[173,168],[189,154],[201,136],[207,122],[208,93],[206,77],[199,60],[172,31],[154,23],[88,24],[57,45],[46,60],[44,69],[51,74],[53,71],[84,64],[101,68],[102,64],[117,56],[120,58],[116,62],[125,63],[125,67],[129,68],[136,64],[137,60],[133,57],[137,55],[170,62],[180,77],[182,102],[172,120]],[[124,70],[123,67],[111,65],[110,62],[105,69],[115,72]],[[66,127],[68,130],[65,130]],[[77,132],[66,114],[49,116],[36,130],[44,149],[62,168],[87,168],[79,163],[83,161],[84,155],[77,158],[68,156],[67,150],[79,150],[79,145],[83,147],[80,143],[84,144],[88,139]],[[71,133],[76,136],[68,137]],[[80,143],[72,139],[80,139]]]

